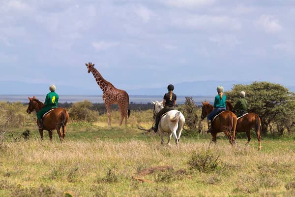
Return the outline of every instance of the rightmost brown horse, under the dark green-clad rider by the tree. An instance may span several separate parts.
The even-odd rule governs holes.
[[[226,109],[229,111],[233,111],[233,105],[229,100],[226,100]],[[246,132],[248,141],[246,145],[249,144],[251,140],[251,133],[250,130],[254,128],[257,139],[258,139],[258,150],[261,149],[261,136],[260,136],[260,125],[261,120],[259,118],[259,115],[255,113],[248,113],[247,115],[237,119],[236,123],[236,132]]]

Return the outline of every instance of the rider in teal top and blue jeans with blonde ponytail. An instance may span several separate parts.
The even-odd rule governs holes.
[[[214,99],[214,105],[213,105],[214,109],[207,116],[207,120],[208,120],[208,131],[207,132],[212,131],[211,122],[212,122],[212,119],[214,118],[214,116],[216,116],[219,112],[226,110],[226,104],[225,104],[226,96],[223,93],[222,86],[217,87],[217,93],[218,93],[218,95]]]

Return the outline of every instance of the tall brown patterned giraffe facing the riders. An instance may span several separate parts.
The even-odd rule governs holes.
[[[85,64],[88,68],[88,73],[92,73],[96,83],[103,92],[102,99],[107,109],[108,114],[108,126],[111,126],[111,104],[118,103],[118,107],[121,113],[120,126],[122,125],[123,119],[125,118],[125,125],[127,124],[127,118],[130,115],[129,107],[129,96],[124,90],[119,90],[115,86],[105,80],[101,74],[94,68],[95,64]]]

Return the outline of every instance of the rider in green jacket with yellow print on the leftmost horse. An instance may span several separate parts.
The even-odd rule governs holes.
[[[57,108],[59,104],[59,95],[55,92],[55,85],[50,85],[49,87],[50,93],[46,95],[44,107],[37,112],[37,119],[39,121],[39,129],[43,129],[42,117],[52,108]]]

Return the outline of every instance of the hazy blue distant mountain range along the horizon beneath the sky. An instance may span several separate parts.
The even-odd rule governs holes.
[[[250,84],[251,82],[238,81],[195,81],[174,84],[175,93],[182,96],[214,96],[216,87],[223,86],[225,91],[231,90],[234,84]],[[295,92],[295,86],[286,86]],[[120,89],[120,87],[117,87]],[[0,81],[0,95],[43,95],[48,90],[48,84],[32,84],[17,81]],[[126,89],[129,95],[163,95],[167,92],[167,86],[160,88]],[[59,95],[102,95],[101,89],[93,87],[75,87],[73,85],[58,85]]]

